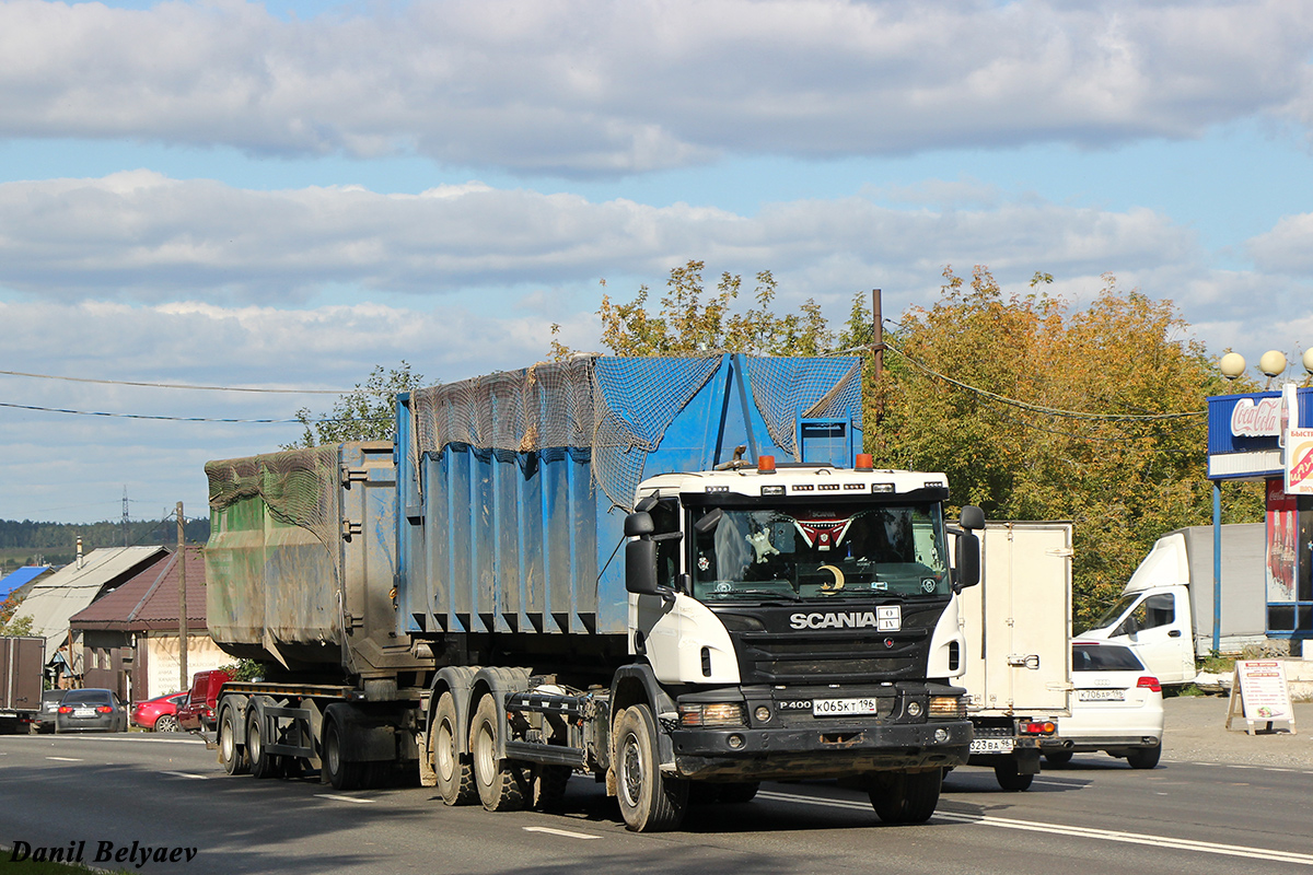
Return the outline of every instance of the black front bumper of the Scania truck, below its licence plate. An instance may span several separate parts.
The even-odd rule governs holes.
[[[676,729],[675,773],[746,781],[840,778],[960,766],[972,743],[968,720],[878,725]]]

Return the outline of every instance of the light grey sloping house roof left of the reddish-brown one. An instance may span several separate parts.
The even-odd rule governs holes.
[[[46,639],[54,656],[68,636],[68,619],[102,593],[119,586],[147,565],[168,556],[163,547],[101,547],[35,581],[17,617],[32,617],[32,634]]]

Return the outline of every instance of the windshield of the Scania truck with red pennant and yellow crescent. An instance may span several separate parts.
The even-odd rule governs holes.
[[[692,596],[704,602],[947,596],[940,505],[725,508],[696,535]]]

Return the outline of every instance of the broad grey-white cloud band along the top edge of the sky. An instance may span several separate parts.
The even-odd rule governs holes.
[[[453,0],[0,5],[0,136],[419,152],[567,174],[1313,126],[1313,8]]]

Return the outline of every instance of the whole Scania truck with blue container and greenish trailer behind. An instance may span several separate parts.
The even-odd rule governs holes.
[[[983,526],[861,454],[856,358],[579,357],[397,399],[397,443],[211,462],[219,761],[448,804],[592,775],[634,830],[763,779],[931,816]],[[948,534],[956,559],[948,560]],[[952,568],[951,568],[952,565]]]

